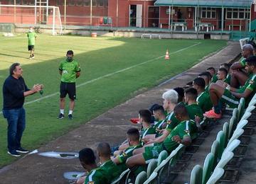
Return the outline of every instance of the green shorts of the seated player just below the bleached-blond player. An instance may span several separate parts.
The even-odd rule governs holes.
[[[146,146],[144,147],[144,153],[142,154],[146,163],[149,163],[151,159],[157,159],[161,151],[164,150],[161,144],[156,146]]]

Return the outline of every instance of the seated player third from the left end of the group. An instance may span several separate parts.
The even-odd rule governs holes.
[[[142,147],[142,144],[139,141],[139,130],[137,130],[137,128],[131,128],[127,131],[127,140],[129,142],[129,147],[112,159],[122,171],[127,169],[125,162],[132,156],[132,151]]]

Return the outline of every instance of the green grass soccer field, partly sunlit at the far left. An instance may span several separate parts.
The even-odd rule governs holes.
[[[201,58],[220,50],[223,40],[142,40],[137,38],[86,38],[39,35],[36,58],[28,59],[26,35],[0,38],[0,85],[9,66],[20,62],[28,87],[44,84],[39,93],[26,98],[26,130],[22,143],[36,149],[51,139],[91,120],[137,93],[160,84],[193,67]],[[166,49],[170,59],[165,60]],[[80,62],[74,119],[57,120],[59,113],[58,65],[67,50]],[[37,100],[39,98],[39,100]],[[2,94],[0,103],[2,104]],[[36,100],[36,101],[35,101]],[[65,113],[68,111],[66,104]],[[145,107],[146,108],[146,107]],[[6,154],[6,120],[0,116],[0,167],[15,159]]]

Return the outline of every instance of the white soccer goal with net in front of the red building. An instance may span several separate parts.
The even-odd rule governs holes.
[[[0,4],[0,23],[15,23],[50,29],[52,35],[62,35],[63,26],[58,6]]]

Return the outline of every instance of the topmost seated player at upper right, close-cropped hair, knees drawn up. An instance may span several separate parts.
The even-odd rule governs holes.
[[[242,69],[245,69],[245,59],[253,55],[253,47],[250,44],[245,44],[242,47],[242,59],[240,62],[235,62],[231,65],[231,80],[230,86],[233,88],[239,88],[240,86],[245,85],[247,81],[248,74]]]

